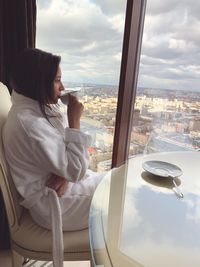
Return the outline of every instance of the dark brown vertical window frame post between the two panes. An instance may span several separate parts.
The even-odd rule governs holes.
[[[127,0],[112,168],[125,163],[129,155],[145,11],[146,0]]]

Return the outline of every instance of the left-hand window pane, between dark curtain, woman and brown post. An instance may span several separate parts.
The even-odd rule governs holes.
[[[85,110],[92,170],[111,167],[125,0],[38,0],[37,48],[62,57],[62,81]]]

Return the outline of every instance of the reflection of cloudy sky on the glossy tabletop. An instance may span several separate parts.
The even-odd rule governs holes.
[[[158,155],[157,159],[162,157],[181,166],[183,177],[179,182],[185,196],[182,200],[173,197],[169,179],[142,172],[142,181],[136,168],[129,166],[120,250],[144,266],[198,267],[199,182],[198,174],[191,175],[191,172],[197,171],[200,154],[169,152]],[[188,157],[193,166],[187,166]],[[140,164],[139,161],[132,159],[130,164]],[[134,170],[136,176],[132,179]]]

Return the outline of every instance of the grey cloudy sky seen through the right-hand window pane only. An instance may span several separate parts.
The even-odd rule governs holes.
[[[199,90],[200,20],[195,11],[200,10],[199,3],[148,3],[139,85]]]

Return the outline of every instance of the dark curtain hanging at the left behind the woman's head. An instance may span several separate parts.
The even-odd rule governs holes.
[[[0,81],[11,91],[9,72],[13,57],[35,47],[36,0],[0,0]],[[9,230],[0,190],[0,249],[9,248]]]

